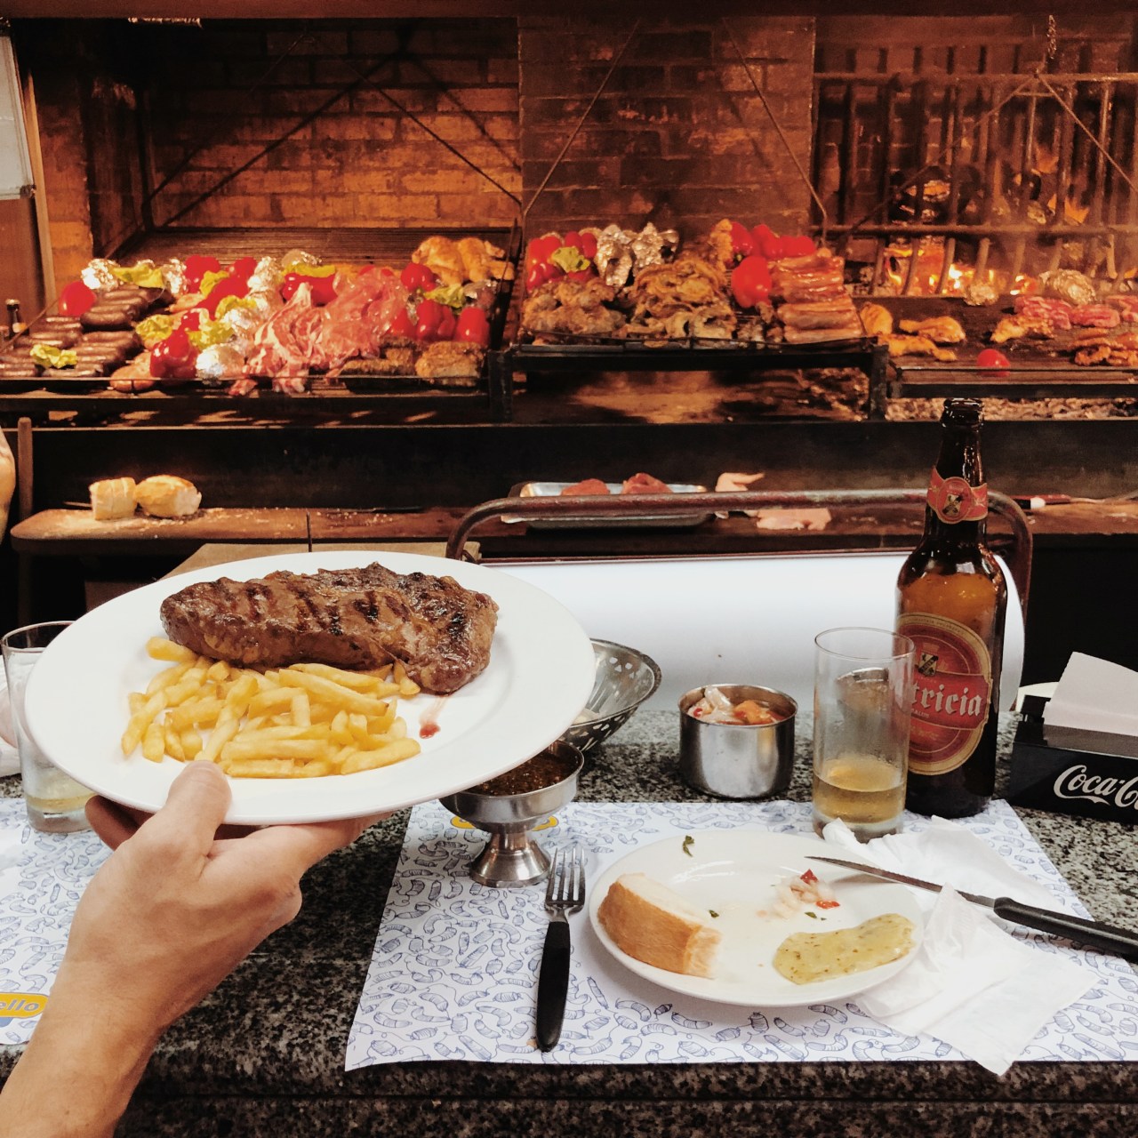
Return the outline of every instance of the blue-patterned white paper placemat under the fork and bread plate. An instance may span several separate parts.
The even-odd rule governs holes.
[[[856,1000],[769,1013],[677,995],[629,972],[602,947],[587,914],[569,918],[572,959],[561,1041],[542,1053],[534,1004],[549,917],[543,887],[490,889],[467,864],[486,835],[454,823],[438,802],[417,806],[348,1036],[346,1070],[378,1063],[775,1063],[964,1061],[931,1037],[902,1036]],[[797,802],[571,802],[538,838],[550,851],[582,844],[588,877],[629,850],[693,830],[813,833]],[[1004,801],[962,822],[1029,877],[1055,907],[1089,916],[1015,811]],[[926,819],[906,816],[921,830]],[[1138,978],[1115,957],[1017,930],[1040,951],[1070,956],[1098,976],[1087,996],[1039,1032],[1021,1061],[1123,1061],[1138,1055]]]

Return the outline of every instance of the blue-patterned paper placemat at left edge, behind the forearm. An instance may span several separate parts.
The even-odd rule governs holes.
[[[75,906],[110,850],[98,834],[42,834],[0,800],[0,1044],[26,1044],[67,947]]]

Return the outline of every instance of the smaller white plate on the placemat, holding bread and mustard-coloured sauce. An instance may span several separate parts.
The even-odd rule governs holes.
[[[774,967],[775,950],[795,932],[832,932],[849,929],[882,913],[900,913],[914,925],[914,943],[920,943],[924,918],[916,900],[904,885],[871,881],[848,869],[807,860],[809,853],[833,852],[817,838],[772,834],[762,830],[694,831],[684,852],[682,838],[666,838],[643,846],[609,866],[592,889],[588,916],[601,943],[626,967],[661,988],[720,1004],[752,1008],[798,1007],[830,1003],[866,991],[896,975],[913,953],[891,964],[846,976],[795,984]],[[789,917],[760,917],[760,909],[774,904],[775,888],[789,876],[813,869],[822,881],[834,882],[838,908],[806,910]],[[644,964],[617,948],[596,916],[609,887],[625,873],[644,873],[674,889],[690,904],[719,914],[723,933],[715,978],[687,976]],[[847,880],[842,880],[842,879]]]

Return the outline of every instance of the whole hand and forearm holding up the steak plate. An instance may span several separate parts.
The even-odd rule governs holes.
[[[387,817],[226,836],[230,797],[201,761],[152,817],[88,802],[114,853],[75,909],[39,1025],[0,1091],[6,1138],[110,1138],[162,1032],[297,915],[306,869]]]

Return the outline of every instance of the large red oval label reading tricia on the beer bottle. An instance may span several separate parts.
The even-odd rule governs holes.
[[[906,612],[897,630],[916,645],[909,770],[941,775],[967,762],[991,703],[988,645],[971,629],[931,612]]]

